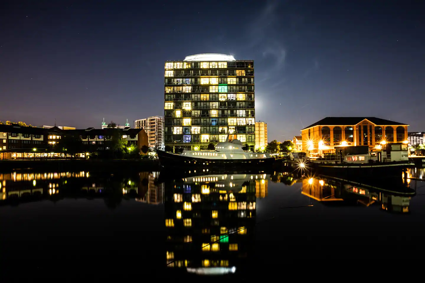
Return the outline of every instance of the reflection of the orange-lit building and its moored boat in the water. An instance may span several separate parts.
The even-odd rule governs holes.
[[[410,187],[400,184],[387,184],[378,188],[365,184],[352,185],[324,177],[303,178],[302,182],[301,193],[323,204],[345,202],[366,207],[378,206],[382,210],[399,213],[409,212],[410,199],[416,194]]]

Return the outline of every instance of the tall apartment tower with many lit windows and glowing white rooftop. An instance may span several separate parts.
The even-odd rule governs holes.
[[[207,149],[229,133],[254,150],[254,61],[196,54],[164,67],[165,146]]]

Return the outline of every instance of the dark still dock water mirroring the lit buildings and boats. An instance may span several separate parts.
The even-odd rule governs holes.
[[[0,173],[2,274],[176,278],[221,267],[204,271],[249,280],[306,258],[318,267],[326,256],[405,256],[423,246],[424,168],[375,188],[308,174],[210,173]]]

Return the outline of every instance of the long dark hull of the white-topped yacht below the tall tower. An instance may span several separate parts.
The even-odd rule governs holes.
[[[166,151],[158,151],[159,163],[164,168],[184,169],[184,168],[211,168],[215,171],[229,169],[258,169],[266,170],[272,168],[274,158],[256,159],[206,159],[186,157]]]

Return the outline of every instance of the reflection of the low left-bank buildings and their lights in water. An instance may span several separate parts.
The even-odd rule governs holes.
[[[119,203],[124,197],[148,204],[161,204],[164,199],[164,185],[156,183],[158,177],[159,172],[141,172],[127,177],[91,174],[87,171],[45,173],[14,171],[0,173],[0,193],[1,200],[6,202],[113,196],[113,199],[116,199],[114,203]]]

